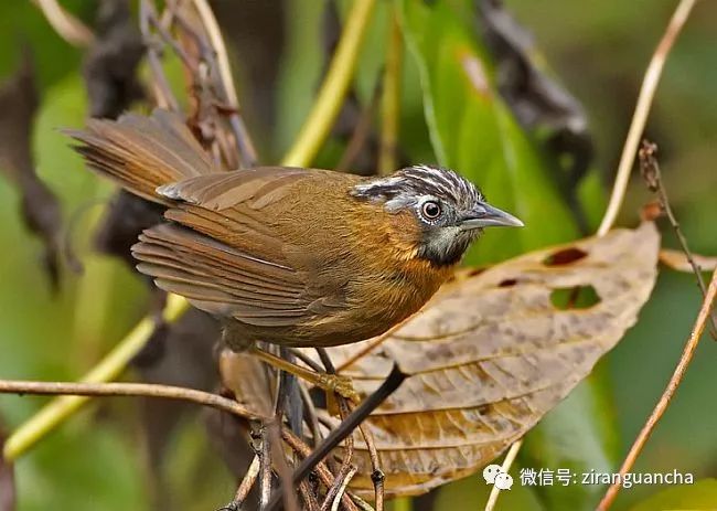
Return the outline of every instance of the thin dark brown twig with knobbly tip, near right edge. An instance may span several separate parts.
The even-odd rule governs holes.
[[[707,296],[707,286],[705,285],[705,279],[702,276],[702,268],[695,262],[692,251],[687,245],[687,238],[683,234],[682,228],[679,227],[679,223],[677,222],[677,217],[675,216],[675,213],[672,211],[672,206],[670,205],[667,190],[662,182],[662,172],[660,171],[660,163],[657,162],[656,153],[657,145],[648,140],[643,140],[639,152],[640,170],[643,179],[648,183],[650,191],[656,193],[657,198],[660,199],[660,205],[667,215],[667,221],[670,222],[672,230],[675,232],[675,236],[677,236],[677,242],[682,247],[682,252],[685,253],[685,257],[687,257],[687,262],[689,262],[689,266],[692,266],[692,272],[695,274],[697,286],[699,286],[699,290],[702,291],[702,297],[704,299]],[[710,315],[709,319],[709,333],[713,339],[717,340],[717,320],[715,319],[714,315]]]

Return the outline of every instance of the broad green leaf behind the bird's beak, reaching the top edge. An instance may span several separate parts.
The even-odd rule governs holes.
[[[491,203],[526,224],[491,230],[467,262],[496,262],[576,237],[547,158],[499,96],[492,63],[465,10],[456,2],[402,0],[399,7],[439,163],[474,181]]]

